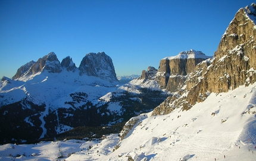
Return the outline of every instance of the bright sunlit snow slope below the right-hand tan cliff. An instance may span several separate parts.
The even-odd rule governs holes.
[[[176,109],[168,115],[139,120],[141,124],[133,127],[108,159],[126,160],[125,156],[130,156],[135,160],[214,160],[227,153],[231,160],[236,160],[239,146],[244,156],[246,149],[255,145],[254,86],[211,94],[189,111]],[[252,108],[248,109],[248,105]],[[213,112],[215,115],[211,115]],[[123,157],[116,157],[116,153]],[[256,154],[248,157],[256,159]]]

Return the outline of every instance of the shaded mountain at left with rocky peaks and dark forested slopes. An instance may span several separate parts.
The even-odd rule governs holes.
[[[51,52],[21,66],[12,79],[2,78],[0,143],[120,123],[153,110],[168,96],[160,89],[132,88],[133,93],[120,88],[113,62],[104,52],[86,54],[79,67],[70,56],[60,62]]]

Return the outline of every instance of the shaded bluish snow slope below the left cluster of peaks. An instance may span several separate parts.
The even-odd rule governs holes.
[[[73,108],[66,101],[72,101],[70,94],[75,92],[86,92],[88,98],[74,104],[76,107],[84,104],[83,101],[90,101],[97,104],[98,99],[118,87],[118,82],[110,83],[94,76],[79,75],[79,71],[68,72],[63,70],[61,73],[49,73],[47,70],[38,72],[35,75],[24,76],[16,80],[4,78],[0,83],[0,106],[12,104],[27,98],[34,104],[45,104],[45,111],[40,112],[39,119],[42,121],[40,127],[43,132],[40,138],[46,134],[45,120],[49,111],[53,111],[60,107]],[[112,107],[114,108],[114,107]],[[120,108],[119,106],[115,109]],[[31,124],[29,118],[25,120]],[[61,129],[70,129],[70,127],[57,127],[58,133]]]

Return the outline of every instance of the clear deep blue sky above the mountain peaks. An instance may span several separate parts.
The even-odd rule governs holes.
[[[117,76],[141,75],[180,51],[213,56],[239,8],[253,1],[0,0],[0,77],[50,51],[79,67],[105,51]]]

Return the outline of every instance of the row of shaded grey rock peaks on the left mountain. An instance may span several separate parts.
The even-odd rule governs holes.
[[[60,73],[63,70],[75,72],[76,69],[77,67],[70,56],[65,57],[60,63],[56,54],[51,52],[39,58],[36,62],[31,61],[21,66],[13,76],[13,79],[18,79],[21,76],[30,76],[43,71]],[[86,54],[79,66],[79,75],[96,76],[110,83],[118,82],[112,59],[104,52]]]

